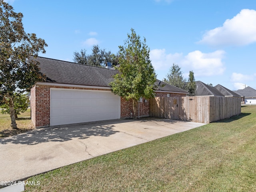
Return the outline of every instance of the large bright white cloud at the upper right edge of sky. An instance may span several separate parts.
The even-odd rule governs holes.
[[[221,27],[209,30],[199,41],[212,46],[242,46],[256,42],[256,11],[243,9]]]

